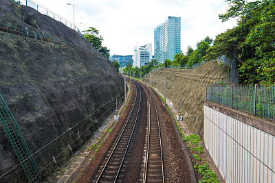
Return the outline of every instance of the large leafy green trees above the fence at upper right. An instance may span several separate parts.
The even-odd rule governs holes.
[[[236,59],[243,84],[274,84],[275,1],[226,1],[230,8],[219,19],[238,17],[238,25],[219,34],[204,58]]]

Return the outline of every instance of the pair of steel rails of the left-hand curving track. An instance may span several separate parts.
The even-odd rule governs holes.
[[[135,82],[133,82],[133,83],[135,83]],[[140,86],[138,86],[136,83],[135,83],[135,85],[136,85],[137,88],[140,90]],[[137,90],[137,89],[136,89],[136,90]],[[140,114],[141,96],[142,96],[142,95],[141,95],[141,90],[140,90],[140,103],[139,103],[138,110],[137,110],[137,116],[135,117],[135,124],[137,123],[137,117],[138,117],[139,114]],[[122,133],[120,134],[120,137],[118,138],[117,143],[115,143],[115,147],[113,148],[113,151],[111,152],[111,154],[110,154],[110,156],[109,156],[107,162],[105,163],[105,165],[104,165],[104,167],[103,167],[103,169],[102,169],[100,175],[98,176],[98,179],[96,180],[96,182],[99,182],[99,181],[100,181],[100,178],[102,177],[102,174],[104,173],[104,171],[105,171],[107,165],[109,164],[109,161],[111,160],[111,157],[113,156],[116,147],[118,147],[118,143],[120,142],[120,140],[121,140],[121,138],[122,138],[122,135],[124,134],[124,131],[125,131],[125,129],[126,129],[126,126],[128,125],[128,122],[129,122],[129,119],[130,119],[131,115],[133,114],[133,109],[135,108],[136,104],[137,104],[137,93],[135,93],[135,102],[134,102],[133,107],[131,108],[131,112],[130,112],[129,117],[128,117],[127,121],[126,121],[126,124],[124,125],[124,128],[123,128],[123,130],[122,130]],[[125,149],[125,151],[124,151],[124,156],[123,156],[123,158],[122,158],[122,160],[121,160],[121,162],[120,162],[120,167],[119,167],[119,169],[118,169],[118,173],[115,175],[115,180],[114,180],[113,182],[115,182],[115,181],[117,180],[118,175],[119,175],[119,173],[120,173],[120,169],[121,169],[121,167],[122,167],[122,164],[123,164],[123,161],[124,161],[126,152],[127,152],[128,148],[129,148],[129,144],[130,144],[131,138],[132,138],[132,136],[133,136],[133,131],[134,131],[134,129],[135,129],[135,124],[134,124],[134,126],[133,126],[133,130],[132,130],[132,132],[131,132],[131,136],[130,136],[130,138],[129,138],[128,144],[127,144],[126,149]]]

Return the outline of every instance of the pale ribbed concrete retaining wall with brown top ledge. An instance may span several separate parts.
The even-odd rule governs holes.
[[[225,182],[275,182],[275,124],[204,101],[203,141]]]

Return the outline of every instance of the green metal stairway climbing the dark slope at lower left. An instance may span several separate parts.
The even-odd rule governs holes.
[[[25,138],[21,133],[17,121],[14,119],[12,112],[10,112],[10,109],[8,108],[1,94],[0,101],[1,126],[3,127],[8,141],[12,145],[12,148],[14,149],[19,162],[21,163],[28,182],[37,182],[42,178],[41,171],[37,166],[27,143],[25,142]]]

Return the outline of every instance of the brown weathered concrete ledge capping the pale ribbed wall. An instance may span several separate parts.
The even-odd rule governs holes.
[[[233,108],[229,108],[226,106],[221,106],[217,103],[213,103],[211,101],[203,101],[204,106],[208,106],[209,108],[212,108],[214,110],[217,110],[225,115],[228,115],[229,117],[232,117],[236,120],[242,121],[245,124],[248,124],[252,127],[255,127],[256,129],[262,130],[263,132],[266,132],[267,134],[271,134],[272,136],[275,136],[275,123],[272,123],[271,121],[267,121],[264,119],[259,119],[258,117],[255,117],[254,115],[248,115],[244,112],[241,112],[239,110],[234,110]]]

